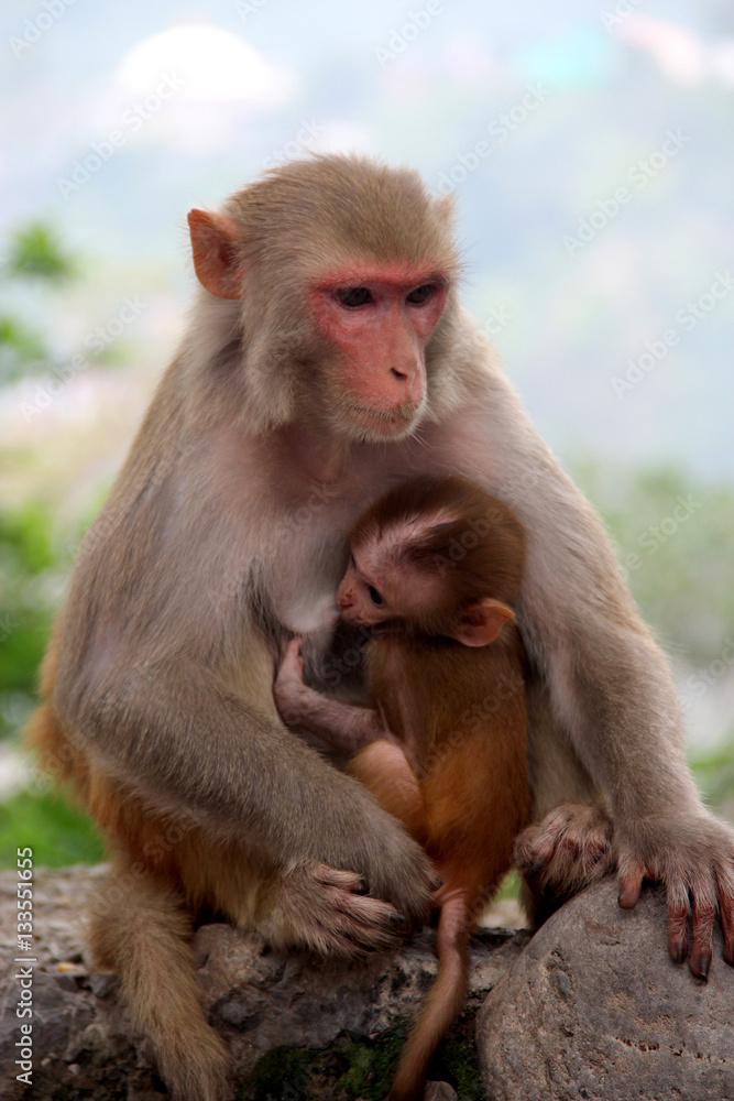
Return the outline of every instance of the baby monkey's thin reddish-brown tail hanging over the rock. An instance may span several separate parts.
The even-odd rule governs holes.
[[[468,892],[445,883],[436,931],[438,973],[407,1038],[387,1095],[388,1101],[419,1101],[426,1069],[456,1017],[469,979],[469,926],[472,906]]]

